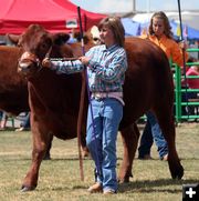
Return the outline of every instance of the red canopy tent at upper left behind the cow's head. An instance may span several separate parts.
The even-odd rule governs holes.
[[[77,7],[66,0],[0,0],[0,34],[22,33],[32,23],[50,32],[70,32],[78,29],[77,16]],[[105,17],[83,9],[81,16],[84,31]]]

